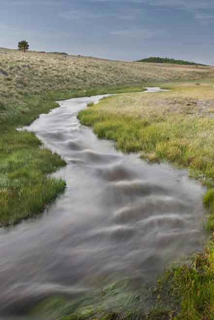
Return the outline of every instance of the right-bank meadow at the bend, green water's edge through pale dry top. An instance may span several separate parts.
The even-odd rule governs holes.
[[[111,96],[82,110],[82,124],[125,152],[145,152],[214,180],[213,87]],[[204,100],[206,99],[206,100]],[[203,105],[201,101],[203,100]],[[150,104],[150,105],[149,105]]]

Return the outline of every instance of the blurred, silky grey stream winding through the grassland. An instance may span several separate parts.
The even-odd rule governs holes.
[[[52,294],[101,289],[106,279],[153,281],[204,245],[205,188],[185,170],[148,165],[82,127],[78,111],[101,97],[61,101],[27,128],[66,159],[54,175],[67,188],[43,215],[0,229],[2,319]]]

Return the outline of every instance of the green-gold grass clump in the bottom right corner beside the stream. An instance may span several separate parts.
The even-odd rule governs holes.
[[[174,271],[174,282],[182,297],[176,320],[214,319],[214,242],[199,254],[192,267]]]

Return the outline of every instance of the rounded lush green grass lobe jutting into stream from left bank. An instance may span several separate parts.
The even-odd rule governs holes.
[[[65,189],[65,181],[47,177],[65,161],[40,145],[33,133],[15,128],[0,135],[0,226],[43,211]]]

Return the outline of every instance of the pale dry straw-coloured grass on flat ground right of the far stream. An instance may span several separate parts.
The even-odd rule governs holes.
[[[169,86],[168,86],[169,87]],[[111,102],[110,102],[111,101]],[[214,116],[214,87],[174,86],[171,91],[118,95],[99,104],[102,112],[139,118],[162,118],[174,114]]]

